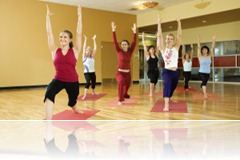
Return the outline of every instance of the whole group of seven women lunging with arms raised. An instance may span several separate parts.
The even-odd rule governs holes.
[[[52,54],[52,60],[56,70],[56,74],[50,84],[47,86],[44,103],[46,107],[46,119],[52,119],[54,99],[55,96],[62,90],[65,89],[68,94],[68,106],[72,108],[75,113],[83,113],[81,110],[77,109],[77,98],[79,95],[79,81],[78,74],[75,69],[76,63],[82,50],[82,9],[78,6],[78,22],[77,22],[77,34],[76,34],[76,44],[73,45],[72,38],[73,35],[68,30],[63,30],[59,36],[60,48],[55,45],[52,26],[50,21],[49,7],[47,6],[46,14],[46,30],[48,35],[48,45]],[[150,92],[149,96],[153,95],[155,86],[159,78],[159,66],[158,66],[158,53],[160,51],[162,58],[164,60],[164,69],[162,72],[162,79],[164,82],[163,88],[163,98],[164,98],[164,109],[163,111],[169,111],[169,101],[172,97],[174,90],[178,85],[178,58],[179,58],[179,48],[182,44],[182,28],[179,16],[177,17],[178,29],[177,36],[174,37],[173,34],[166,35],[165,44],[163,40],[162,28],[161,28],[161,18],[158,16],[158,31],[157,31],[157,44],[156,47],[151,45],[148,47],[145,44],[144,33],[142,33],[142,43],[144,47],[144,55],[148,63],[148,77],[150,79]],[[123,105],[123,101],[130,98],[128,94],[128,89],[131,84],[131,57],[134,52],[137,35],[136,35],[136,24],[133,24],[133,40],[130,45],[128,40],[122,40],[120,46],[118,45],[116,36],[116,24],[111,23],[112,35],[114,46],[117,52],[117,73],[116,79],[118,83],[118,105]],[[86,79],[86,85],[84,90],[84,95],[82,99],[87,98],[87,91],[90,87],[92,88],[92,94],[97,94],[95,92],[96,84],[96,74],[94,69],[94,56],[96,53],[96,35],[93,36],[93,49],[87,46],[87,37],[84,35],[82,62],[84,65],[84,76]],[[210,64],[213,50],[215,47],[215,36],[213,36],[212,48],[211,50],[207,46],[200,47],[200,36],[198,35],[198,60],[200,64],[199,78],[201,79],[201,88],[204,98],[207,98],[206,84],[210,75]],[[183,71],[185,78],[184,88],[188,90],[188,82],[191,77],[191,67],[192,67],[192,57],[193,57],[193,46],[191,45],[191,54],[182,54]]]

